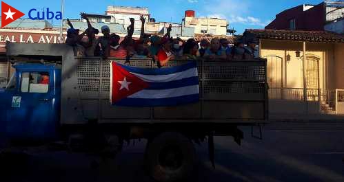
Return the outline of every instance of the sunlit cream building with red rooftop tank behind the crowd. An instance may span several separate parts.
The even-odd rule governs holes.
[[[185,27],[194,27],[195,34],[213,34],[216,36],[227,34],[227,20],[212,17],[197,18],[192,10],[185,12],[183,24]]]

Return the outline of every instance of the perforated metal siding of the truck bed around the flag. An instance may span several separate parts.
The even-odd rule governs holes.
[[[110,91],[110,60],[141,68],[157,68],[152,59],[131,58],[130,60],[99,57],[77,58],[77,77],[80,91]],[[190,60],[173,60],[166,67],[183,65]],[[207,61],[196,60],[199,73],[201,96],[221,93],[245,94],[265,93],[265,60]],[[234,97],[234,96],[233,96]],[[235,98],[235,97],[234,97]],[[238,98],[239,99],[239,98]],[[249,99],[249,98],[247,98]]]

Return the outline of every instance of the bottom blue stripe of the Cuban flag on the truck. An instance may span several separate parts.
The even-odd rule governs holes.
[[[114,103],[117,106],[175,106],[199,101],[199,94],[163,99],[124,98]]]

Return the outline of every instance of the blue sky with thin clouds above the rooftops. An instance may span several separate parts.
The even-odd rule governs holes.
[[[61,0],[3,0],[28,18],[32,8],[61,11]],[[65,0],[63,18],[79,19],[79,12],[104,14],[108,5],[140,6],[149,8],[156,21],[181,23],[185,10],[194,10],[196,16],[227,19],[229,28],[241,34],[247,28],[263,29],[276,14],[296,5],[318,4],[321,0]],[[54,21],[59,24],[59,21]]]

